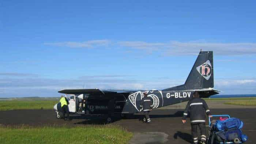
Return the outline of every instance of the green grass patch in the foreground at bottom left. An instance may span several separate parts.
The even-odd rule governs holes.
[[[0,127],[1,144],[125,144],[132,133],[119,126]]]

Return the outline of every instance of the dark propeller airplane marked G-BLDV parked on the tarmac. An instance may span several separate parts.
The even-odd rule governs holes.
[[[68,110],[70,114],[99,115],[112,112],[125,116],[139,113],[140,100],[143,93],[153,101],[153,109],[169,106],[176,103],[186,102],[193,98],[195,92],[199,92],[200,97],[208,98],[211,95],[219,94],[214,87],[213,52],[200,50],[187,80],[184,84],[163,90],[99,90],[95,89],[66,89],[60,90],[62,94],[72,94],[69,96]],[[114,107],[114,108],[113,108]],[[54,106],[56,117],[61,118],[60,103]],[[108,116],[107,121],[112,121]]]

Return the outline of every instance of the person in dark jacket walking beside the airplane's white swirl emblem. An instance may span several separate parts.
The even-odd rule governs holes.
[[[152,102],[151,99],[147,96],[146,92],[144,92],[143,95],[144,98],[140,101],[140,107],[143,108],[143,113],[145,115],[143,121],[149,123],[151,120],[148,113],[152,110]]]

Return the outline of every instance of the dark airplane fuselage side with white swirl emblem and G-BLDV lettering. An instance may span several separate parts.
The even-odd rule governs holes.
[[[123,114],[132,114],[142,111],[140,107],[140,101],[143,98],[144,92],[147,92],[153,103],[153,109],[157,109],[163,106],[173,105],[175,103],[189,101],[193,98],[194,90],[174,90],[174,91],[162,91],[162,90],[151,90],[151,91],[134,91],[130,93],[117,93],[112,97],[115,98],[114,112]],[[106,93],[106,95],[108,95]],[[90,99],[86,104],[84,113],[86,114],[104,114],[108,113],[110,99]]]

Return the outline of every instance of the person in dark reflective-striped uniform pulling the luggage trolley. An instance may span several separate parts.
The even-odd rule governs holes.
[[[192,137],[194,144],[198,143],[197,128],[200,129],[201,143],[206,143],[206,126],[205,126],[205,113],[211,117],[211,112],[208,109],[207,103],[200,98],[199,93],[194,93],[194,99],[191,99],[184,111],[182,122],[186,122],[188,112],[190,111],[190,122],[192,129]]]

